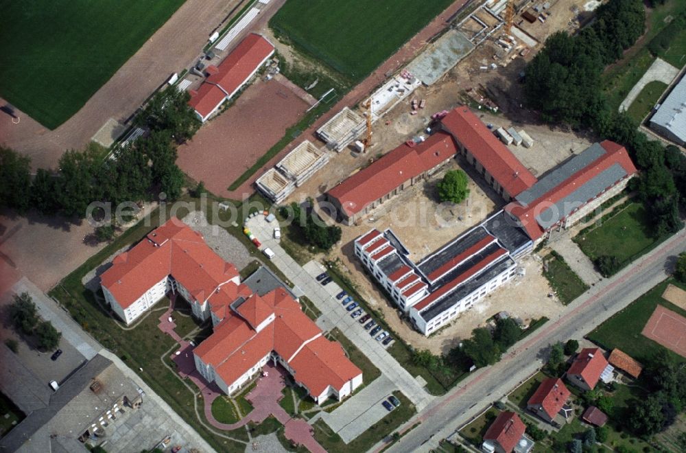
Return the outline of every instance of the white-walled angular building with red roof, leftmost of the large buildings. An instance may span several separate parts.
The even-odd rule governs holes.
[[[127,325],[168,292],[178,292],[201,320],[221,312],[237,297],[250,295],[236,267],[176,218],[117,255],[100,283],[105,300]]]

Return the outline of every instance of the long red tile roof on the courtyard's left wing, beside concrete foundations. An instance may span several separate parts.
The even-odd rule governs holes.
[[[329,196],[340,202],[348,216],[353,216],[405,181],[450,159],[456,152],[455,142],[445,132],[437,132],[416,146],[403,143],[333,187]]]

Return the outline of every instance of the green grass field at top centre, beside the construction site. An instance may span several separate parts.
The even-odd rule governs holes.
[[[352,81],[376,69],[453,0],[287,0],[270,21]]]

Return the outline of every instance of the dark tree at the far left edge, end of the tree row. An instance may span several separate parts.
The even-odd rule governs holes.
[[[23,213],[29,207],[31,159],[0,146],[0,206]]]

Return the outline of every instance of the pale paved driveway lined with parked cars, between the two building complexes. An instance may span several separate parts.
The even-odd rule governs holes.
[[[320,267],[320,264],[309,263],[303,268],[285,253],[279,242],[272,237],[274,226],[276,225],[266,222],[264,216],[255,216],[248,220],[250,231],[255,233],[264,246],[274,251],[275,256],[272,259],[274,265],[295,286],[303,290],[322,312],[317,325],[327,330],[338,327],[379,368],[383,375],[386,375],[405,396],[410,398],[417,410],[425,408],[434,397],[427,393],[424,384],[407,373],[397,360],[379,342],[371,338],[362,326],[341,307],[340,302],[335,299],[335,294],[340,292],[338,285],[332,282],[327,286],[321,286],[316,281],[315,276],[324,269]]]

